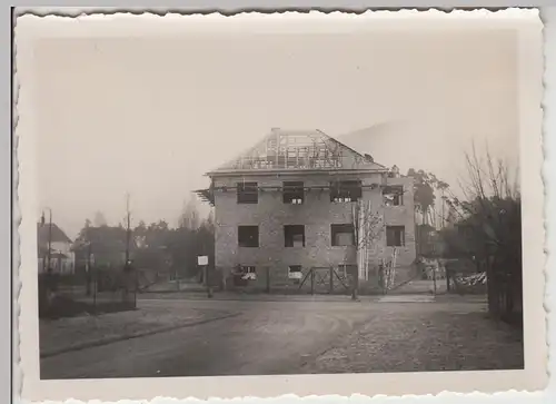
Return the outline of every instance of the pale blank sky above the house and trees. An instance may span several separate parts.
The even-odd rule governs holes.
[[[515,43],[400,30],[44,40],[39,205],[70,237],[96,210],[120,221],[126,191],[136,220],[175,224],[203,173],[271,127],[318,128],[455,185],[473,140],[517,164]]]

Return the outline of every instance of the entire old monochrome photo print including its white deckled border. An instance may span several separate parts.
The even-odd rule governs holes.
[[[538,13],[386,14],[19,18],[30,397],[543,387]]]

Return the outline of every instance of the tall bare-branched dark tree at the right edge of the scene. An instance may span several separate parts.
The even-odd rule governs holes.
[[[467,178],[460,180],[464,200],[448,198],[458,223],[473,234],[474,255],[487,273],[490,312],[512,314],[522,288],[522,201],[518,170],[485,156],[475,145],[466,154]]]

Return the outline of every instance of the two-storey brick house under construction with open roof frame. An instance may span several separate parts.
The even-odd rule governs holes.
[[[227,288],[364,289],[416,258],[413,178],[322,131],[272,129],[207,176]]]

